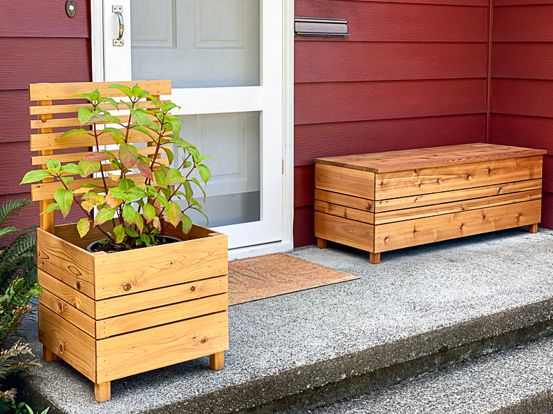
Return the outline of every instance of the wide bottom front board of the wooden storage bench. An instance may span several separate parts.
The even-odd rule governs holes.
[[[541,200],[525,201],[375,226],[375,250],[385,252],[540,221]],[[368,224],[366,226],[369,226]]]

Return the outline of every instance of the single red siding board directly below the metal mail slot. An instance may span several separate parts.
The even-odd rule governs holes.
[[[299,41],[294,47],[294,81],[486,77],[486,47],[486,43]]]

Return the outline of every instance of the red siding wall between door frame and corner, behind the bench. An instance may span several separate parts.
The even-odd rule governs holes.
[[[313,158],[485,142],[487,0],[296,0],[348,20],[296,37],[294,245],[314,243]]]

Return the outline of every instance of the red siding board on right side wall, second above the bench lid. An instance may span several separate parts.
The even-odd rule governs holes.
[[[493,79],[491,112],[553,117],[553,81]]]

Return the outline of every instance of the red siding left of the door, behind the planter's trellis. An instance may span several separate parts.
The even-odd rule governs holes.
[[[17,185],[32,168],[29,83],[92,80],[90,0],[76,3],[70,19],[65,0],[36,0],[24,12],[21,1],[1,1],[0,203],[30,198],[30,186]],[[17,225],[37,224],[38,213],[38,205],[27,208]]]

